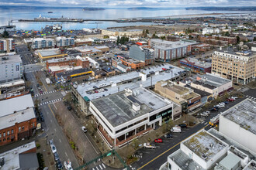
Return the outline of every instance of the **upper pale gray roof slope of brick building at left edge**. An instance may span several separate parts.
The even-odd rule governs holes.
[[[30,94],[0,101],[0,117],[13,114],[14,111],[25,110],[27,107],[34,107]]]

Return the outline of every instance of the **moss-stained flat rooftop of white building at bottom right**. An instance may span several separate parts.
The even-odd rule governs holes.
[[[183,145],[206,162],[228,146],[204,130],[184,141]]]

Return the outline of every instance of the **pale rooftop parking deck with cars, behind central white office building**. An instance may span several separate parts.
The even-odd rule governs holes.
[[[157,83],[157,81],[170,80],[173,77],[179,76],[182,73],[182,71],[185,71],[176,66],[171,66],[172,73],[171,71],[162,70],[162,68],[170,69],[170,66],[171,66],[170,64],[165,63],[164,66],[157,66],[157,67],[154,66],[154,67],[150,67],[150,70],[147,69],[147,70],[141,70],[141,71],[144,72],[145,74],[150,74],[151,71],[154,71],[154,72],[161,71],[157,75],[153,74],[152,85],[154,85],[155,83]],[[102,97],[103,95],[107,96],[112,93],[117,93],[119,91],[122,91],[126,88],[133,89],[136,87],[140,87],[140,83],[142,84],[143,87],[151,86],[150,77],[148,77],[146,81],[142,81],[140,80],[140,78],[141,78],[140,72],[133,71],[129,73],[123,73],[117,76],[110,76],[110,77],[107,77],[106,79],[95,81],[90,84],[85,83],[84,86],[79,84],[76,90],[81,95],[81,97],[87,96],[90,100],[94,100],[96,97]],[[124,82],[127,82],[127,83],[124,83]],[[90,90],[94,90],[93,88],[94,86],[99,87],[100,84],[106,84],[105,86],[102,86],[102,87],[108,89],[108,91],[92,93],[92,94],[86,93]],[[116,84],[116,86],[114,86],[114,84]]]

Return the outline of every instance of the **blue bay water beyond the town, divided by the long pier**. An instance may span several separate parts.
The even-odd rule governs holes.
[[[128,10],[124,8],[106,8],[102,11],[82,11],[82,8],[31,8],[31,7],[0,7],[0,26],[4,26],[10,20],[14,20],[13,24],[16,29],[24,30],[40,30],[47,25],[54,23],[47,22],[18,22],[17,19],[34,19],[42,15],[42,17],[59,18],[61,16],[75,19],[130,19],[130,18],[154,18],[166,17],[174,15],[194,15],[207,13],[222,13],[222,11],[202,11],[202,10],[185,10],[185,9],[169,9],[169,10]],[[52,11],[53,13],[48,13]],[[227,13],[227,11],[225,11]],[[230,12],[237,13],[237,12]],[[140,26],[152,25],[152,22],[83,22],[83,23],[61,23],[64,30],[67,29],[106,29],[115,26]]]

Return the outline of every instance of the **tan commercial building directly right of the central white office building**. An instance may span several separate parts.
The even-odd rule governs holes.
[[[174,82],[159,81],[156,83],[154,90],[160,93],[161,96],[182,105],[182,111],[184,112],[195,110],[202,105],[201,96],[198,93]]]

